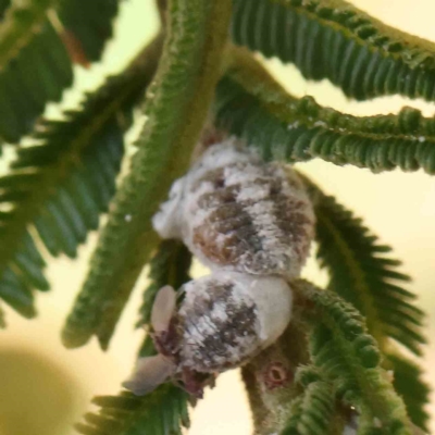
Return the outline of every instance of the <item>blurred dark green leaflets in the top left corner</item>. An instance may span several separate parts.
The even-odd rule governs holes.
[[[59,101],[72,85],[74,50],[99,59],[117,13],[113,0],[97,4],[98,9],[91,0],[78,23],[77,8],[83,5],[75,0],[16,3],[7,10],[0,27],[0,137],[10,142],[29,133],[46,103]],[[53,18],[54,11],[62,23]],[[69,34],[62,34],[62,25]],[[70,42],[69,49],[64,42]]]

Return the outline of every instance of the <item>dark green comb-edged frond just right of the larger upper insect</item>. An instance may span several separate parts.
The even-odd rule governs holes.
[[[328,289],[351,302],[366,319],[370,333],[381,348],[390,337],[420,355],[425,343],[423,312],[413,303],[415,295],[403,288],[410,281],[399,271],[400,261],[389,257],[391,248],[380,244],[362,221],[310,185],[316,215],[318,259],[331,276]]]

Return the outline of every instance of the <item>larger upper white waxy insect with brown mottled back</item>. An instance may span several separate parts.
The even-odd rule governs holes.
[[[212,270],[296,277],[313,237],[312,204],[296,173],[231,138],[176,181],[153,217]]]

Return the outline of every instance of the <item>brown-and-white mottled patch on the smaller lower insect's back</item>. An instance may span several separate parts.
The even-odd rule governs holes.
[[[239,365],[259,340],[257,307],[247,289],[220,276],[192,283],[186,291],[190,300],[179,310],[184,364],[199,372]]]

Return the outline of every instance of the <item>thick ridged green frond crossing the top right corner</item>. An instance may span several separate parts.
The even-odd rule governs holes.
[[[359,100],[391,94],[435,99],[435,45],[347,1],[234,0],[232,35]]]

